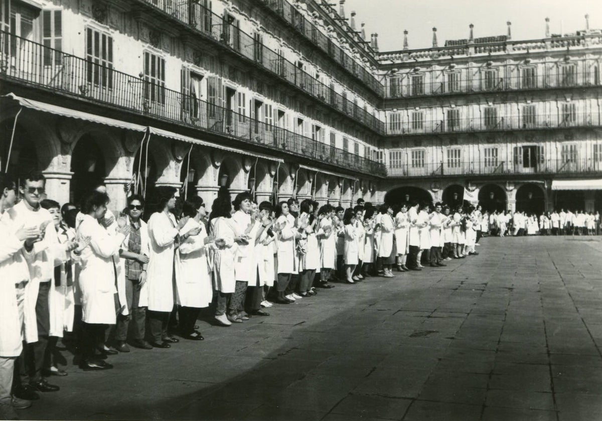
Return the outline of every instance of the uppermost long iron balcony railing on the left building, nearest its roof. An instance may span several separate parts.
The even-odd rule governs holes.
[[[335,62],[351,72],[361,80],[379,97],[383,95],[383,85],[369,71],[359,65],[355,59],[344,52],[341,47],[333,43],[308,19],[305,18],[287,0],[261,0],[270,10],[282,17],[289,25],[293,26],[303,37],[314,43],[320,50],[330,56]],[[372,53],[368,50],[368,53]]]

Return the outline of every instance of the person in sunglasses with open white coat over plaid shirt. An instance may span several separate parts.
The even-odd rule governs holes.
[[[146,292],[146,269],[149,262],[149,234],[146,222],[141,217],[144,213],[144,199],[139,195],[128,198],[128,216],[131,230],[123,240],[119,252],[125,260],[125,297],[128,305],[128,314],[117,316],[115,340],[117,351],[128,353],[126,344],[128,339],[129,321],[134,320],[134,346],[143,350],[152,350],[152,345],[144,340],[144,324],[146,323],[146,307],[140,306],[140,293]]]

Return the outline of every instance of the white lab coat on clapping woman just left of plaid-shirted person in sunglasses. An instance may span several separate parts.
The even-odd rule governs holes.
[[[77,236],[91,239],[80,256],[78,282],[82,320],[85,323],[115,324],[114,295],[117,289],[113,255],[119,252],[125,235],[110,235],[98,220],[84,215]]]

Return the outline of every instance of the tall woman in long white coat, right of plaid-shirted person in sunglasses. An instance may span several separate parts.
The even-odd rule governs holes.
[[[170,348],[178,339],[167,334],[169,316],[175,302],[173,297],[173,259],[176,245],[179,244],[179,230],[188,222],[183,217],[176,222],[172,210],[176,206],[175,187],[160,186],[155,189],[158,198],[158,212],[152,214],[148,222],[151,255],[146,275],[148,291],[149,328],[151,345],[155,348]]]

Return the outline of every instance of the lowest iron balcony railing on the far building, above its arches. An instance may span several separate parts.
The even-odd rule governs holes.
[[[531,162],[521,160],[424,162],[389,162],[388,177],[448,177],[452,175],[518,175],[518,174],[600,174],[602,156],[578,159],[543,159],[538,157]]]

